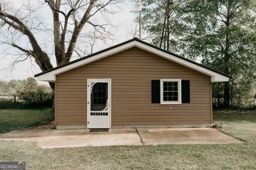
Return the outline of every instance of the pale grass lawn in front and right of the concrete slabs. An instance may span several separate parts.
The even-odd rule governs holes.
[[[41,149],[0,141],[0,161],[26,161],[27,169],[256,169],[256,112],[216,112],[214,119],[246,142]]]

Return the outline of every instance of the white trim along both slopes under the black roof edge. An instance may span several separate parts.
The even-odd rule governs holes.
[[[202,72],[203,74],[209,75],[209,76],[211,76],[211,81],[212,82],[228,82],[228,80],[229,80],[228,77],[223,76],[221,74],[218,74],[217,72],[211,71],[209,69],[198,66],[197,64],[194,64],[194,63],[188,62],[186,60],[180,59],[177,56],[171,55],[171,54],[163,52],[161,50],[157,50],[154,47],[148,46],[148,45],[140,43],[138,41],[132,41],[130,43],[115,47],[111,50],[108,50],[108,51],[99,53],[97,55],[91,56],[90,58],[87,58],[87,59],[69,64],[65,67],[61,67],[59,69],[47,72],[43,75],[38,76],[37,80],[42,80],[42,81],[46,81],[46,82],[55,82],[55,76],[58,75],[58,74],[61,74],[62,72],[66,72],[68,70],[83,66],[85,64],[88,64],[88,63],[91,63],[91,62],[94,62],[94,61],[97,61],[97,60],[100,60],[100,59],[105,58],[109,55],[113,55],[113,54],[116,54],[118,52],[127,50],[131,47],[139,47],[139,48],[141,48],[143,50],[146,50],[148,52],[151,52],[151,53],[154,53],[156,55],[162,56],[165,59],[177,62],[179,64],[182,64],[183,66],[189,67],[191,69]]]

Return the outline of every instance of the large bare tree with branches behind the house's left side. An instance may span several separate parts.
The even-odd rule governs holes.
[[[37,11],[31,8],[29,0],[27,0],[26,4],[26,0],[22,1],[24,1],[23,5],[17,10],[11,8],[7,10],[6,4],[3,6],[2,1],[0,1],[0,21],[2,21],[0,22],[0,29],[5,29],[5,35],[0,33],[0,36],[7,39],[8,43],[5,44],[15,47],[22,51],[22,53],[26,53],[34,58],[41,70],[44,71],[52,68],[49,55],[54,54],[57,66],[60,66],[70,61],[73,52],[83,56],[87,52],[86,49],[89,49],[87,46],[91,47],[90,52],[92,52],[95,39],[103,41],[104,38],[113,36],[114,34],[110,32],[109,27],[113,28],[115,26],[110,23],[101,24],[95,21],[93,21],[95,22],[93,23],[89,21],[89,19],[97,13],[101,14],[102,17],[104,17],[103,13],[114,13],[113,9],[110,11],[107,6],[115,5],[122,0],[108,0],[106,3],[99,0],[66,0],[63,2],[61,0],[45,0],[44,4],[47,4],[52,12],[52,28],[49,28],[49,25],[44,25],[40,18],[34,17]],[[63,8],[61,7],[62,5]],[[95,34],[92,34],[92,32],[83,33],[82,30],[86,23],[88,23],[89,30],[93,28]],[[43,26],[43,28],[39,28],[41,26]],[[47,43],[42,44],[42,42],[39,42],[39,44],[35,38],[37,37],[36,34],[41,34],[40,31],[43,31],[43,29],[47,31],[50,36],[52,36],[53,33],[54,53],[52,51],[47,54]],[[19,45],[20,42],[18,40],[24,36],[28,38],[28,47]],[[85,50],[84,54],[82,52],[83,50],[78,50],[78,47],[76,47],[77,41],[81,41],[83,42],[82,44],[85,44],[85,46],[81,48]],[[0,43],[1,42],[4,43],[3,41],[0,41]],[[79,44],[77,46],[79,46]],[[84,49],[85,47],[86,49]]]

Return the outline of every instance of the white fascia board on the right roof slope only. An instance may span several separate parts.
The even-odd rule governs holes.
[[[173,56],[171,54],[165,53],[161,50],[157,50],[156,48],[150,47],[148,45],[142,44],[140,42],[136,42],[136,46],[139,48],[142,48],[143,50],[146,50],[148,52],[154,53],[156,55],[162,56],[165,59],[169,59],[171,61],[177,62],[183,66],[189,67],[191,69],[194,69],[196,71],[202,72],[203,74],[211,76],[212,82],[228,82],[229,78],[223,75],[218,74],[217,72],[211,71],[209,69],[203,68],[201,66],[198,66],[194,63],[188,62],[186,60],[182,60],[176,56]]]

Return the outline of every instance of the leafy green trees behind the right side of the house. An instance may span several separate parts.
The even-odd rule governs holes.
[[[213,97],[222,98],[225,108],[252,99],[256,93],[255,1],[146,0],[145,4],[146,39],[232,76],[230,82],[213,84]]]

